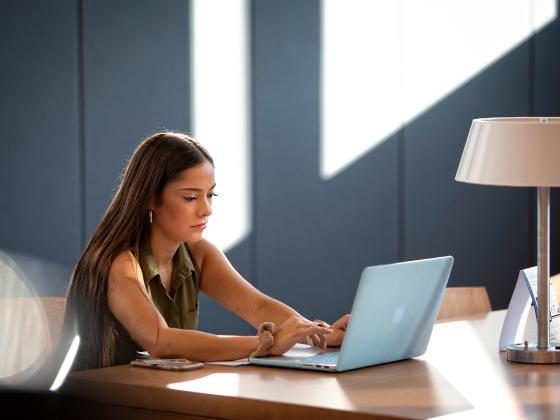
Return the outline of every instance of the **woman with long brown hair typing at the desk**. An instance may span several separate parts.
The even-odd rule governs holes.
[[[66,324],[77,322],[75,369],[152,357],[197,361],[279,355],[297,342],[339,346],[348,316],[310,322],[255,289],[202,233],[212,214],[214,165],[187,135],[145,139],[82,254],[67,296]],[[256,336],[196,330],[202,291],[255,328]]]

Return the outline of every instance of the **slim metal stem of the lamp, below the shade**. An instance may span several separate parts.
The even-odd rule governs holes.
[[[548,349],[550,346],[550,188],[538,187],[537,189],[537,305],[538,305],[538,345],[539,349]]]

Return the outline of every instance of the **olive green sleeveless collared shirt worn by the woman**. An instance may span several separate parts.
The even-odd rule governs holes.
[[[150,300],[171,328],[195,330],[198,326],[198,290],[200,270],[187,244],[181,244],[173,256],[171,291],[167,292],[157,271],[149,244],[140,249],[138,262]],[[118,321],[117,321],[118,323]],[[118,324],[115,364],[129,363],[142,350]]]

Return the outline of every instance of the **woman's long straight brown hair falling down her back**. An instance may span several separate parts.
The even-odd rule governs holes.
[[[134,151],[121,184],[74,270],[67,293],[65,325],[77,324],[78,369],[114,364],[117,320],[107,304],[109,271],[115,258],[138,250],[148,240],[150,200],[160,202],[163,188],[181,171],[212,157],[194,139],[159,132]]]

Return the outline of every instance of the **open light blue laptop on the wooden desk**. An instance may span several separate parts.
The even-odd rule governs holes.
[[[453,257],[366,267],[340,349],[297,344],[260,366],[343,372],[421,356],[430,341]]]

